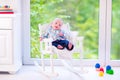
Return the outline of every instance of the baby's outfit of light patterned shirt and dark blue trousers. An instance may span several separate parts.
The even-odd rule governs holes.
[[[60,36],[59,33],[62,33],[63,35]],[[67,33],[65,33],[65,31],[59,29],[59,30],[54,30],[52,27],[49,27],[48,30],[46,30],[46,32],[42,35],[42,38],[52,38],[52,45],[55,46],[56,48],[58,48],[58,45],[61,45],[63,48],[58,48],[58,49],[64,49],[67,48],[68,50],[72,50],[73,49],[73,45],[71,47],[71,49],[69,49],[68,44],[69,41],[67,40],[67,37],[69,36]]]

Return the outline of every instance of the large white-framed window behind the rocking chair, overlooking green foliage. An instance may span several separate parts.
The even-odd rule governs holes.
[[[79,36],[84,36],[83,60],[78,59],[80,54],[76,53],[73,60],[76,64],[94,65],[96,62],[100,62],[104,65],[106,63],[107,51],[110,49],[106,46],[109,44],[106,42],[106,39],[109,38],[106,38],[106,33],[110,30],[107,30],[106,26],[106,20],[108,20],[106,19],[108,17],[106,17],[108,14],[106,9],[108,9],[110,1],[24,0],[23,4],[25,64],[32,64],[34,59],[40,60],[38,24],[48,23],[56,16],[69,22],[71,30],[77,31]],[[109,12],[109,10],[107,11]]]

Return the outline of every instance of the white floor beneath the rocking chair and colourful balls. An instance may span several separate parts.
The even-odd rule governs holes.
[[[49,67],[47,67],[49,70]],[[76,68],[79,70],[80,68]],[[40,72],[35,66],[23,66],[16,74],[0,73],[0,80],[120,80],[120,68],[113,68],[114,75],[104,73],[100,77],[94,67],[84,68],[85,73],[80,73],[80,76],[68,71],[64,67],[55,67],[58,77],[49,77]]]

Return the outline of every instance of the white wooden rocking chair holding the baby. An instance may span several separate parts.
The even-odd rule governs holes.
[[[54,71],[54,64],[53,64],[53,54],[54,53],[57,54],[58,58],[61,59],[63,65],[65,67],[67,67],[69,70],[72,69],[71,64],[68,63],[68,62],[70,62],[70,60],[72,60],[72,53],[74,53],[75,51],[80,52],[81,58],[82,58],[82,55],[83,55],[82,54],[83,53],[83,44],[82,44],[83,43],[83,37],[78,37],[77,34],[75,35],[75,32],[71,32],[69,23],[63,24],[63,26],[64,26],[63,29],[67,30],[68,34],[71,34],[70,36],[67,36],[68,39],[74,45],[77,44],[79,49],[76,49],[76,46],[74,46],[74,49],[72,51],[59,50],[56,47],[52,46],[51,38],[43,39],[42,41],[40,41],[42,69],[43,69],[43,71],[46,71],[45,70],[45,63],[44,63],[44,55],[45,54],[50,54],[50,66],[51,66],[51,73],[50,74],[52,74],[54,76],[58,76],[58,74]],[[49,27],[49,25],[48,24],[44,24],[44,25],[39,24],[38,27],[39,27],[39,34],[41,36],[41,34],[43,34],[45,32],[45,30]],[[77,74],[74,70],[72,70],[72,72]]]

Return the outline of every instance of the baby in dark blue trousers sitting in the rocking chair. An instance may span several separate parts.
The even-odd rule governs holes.
[[[40,37],[40,41],[44,38],[51,37],[53,39],[52,45],[56,48],[63,50],[66,48],[67,50],[71,51],[74,48],[74,45],[68,41],[67,35],[62,29],[63,21],[60,18],[56,18],[50,24],[48,30],[46,30],[45,34],[42,34]]]

